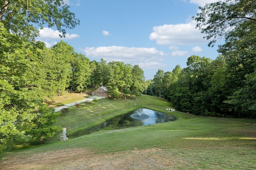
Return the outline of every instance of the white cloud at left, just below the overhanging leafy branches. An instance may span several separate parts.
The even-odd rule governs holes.
[[[79,35],[77,34],[69,34],[66,33],[66,37],[65,38],[60,38],[60,32],[58,30],[53,30],[50,28],[45,28],[44,29],[39,29],[40,32],[40,36],[38,37],[38,39],[44,39],[44,40],[51,40],[51,39],[73,39],[73,38],[77,38],[79,37]]]

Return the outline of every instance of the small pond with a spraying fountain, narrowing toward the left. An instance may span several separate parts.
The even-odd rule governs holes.
[[[164,123],[168,121],[175,121],[176,117],[164,112],[154,111],[150,109],[140,108],[134,111],[130,111],[126,114],[119,115],[112,119],[105,121],[104,123],[78,131],[71,135],[68,135],[68,138],[75,138],[82,135],[87,135],[95,131],[104,130],[114,130],[114,129],[124,129],[128,127],[137,127],[144,125],[154,125],[156,123]]]

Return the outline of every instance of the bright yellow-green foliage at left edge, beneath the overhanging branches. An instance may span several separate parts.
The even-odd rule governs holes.
[[[38,66],[32,44],[8,33],[0,23],[0,154],[15,143],[27,142],[31,136],[23,131],[34,119],[41,89],[34,79]]]

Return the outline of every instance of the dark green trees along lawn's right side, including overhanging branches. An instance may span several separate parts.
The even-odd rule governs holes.
[[[206,4],[193,17],[209,46],[221,37],[215,59],[191,56],[187,67],[158,70],[147,94],[197,115],[256,117],[256,0]]]

